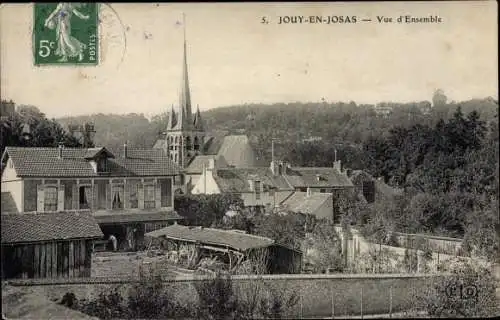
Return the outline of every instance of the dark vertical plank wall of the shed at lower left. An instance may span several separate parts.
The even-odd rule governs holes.
[[[5,246],[5,278],[90,277],[92,240]]]

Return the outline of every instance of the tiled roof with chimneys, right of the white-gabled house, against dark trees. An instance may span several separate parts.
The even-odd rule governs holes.
[[[288,168],[286,180],[294,187],[353,187],[349,178],[332,168],[295,167]]]

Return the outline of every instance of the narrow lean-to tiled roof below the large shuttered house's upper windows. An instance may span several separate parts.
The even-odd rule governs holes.
[[[182,220],[183,218],[173,210],[158,209],[127,209],[127,210],[99,210],[93,213],[98,223],[125,223],[125,222],[160,222]]]

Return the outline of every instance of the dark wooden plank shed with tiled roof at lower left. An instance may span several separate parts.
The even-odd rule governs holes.
[[[1,218],[2,279],[90,277],[93,241],[103,237],[90,212]]]

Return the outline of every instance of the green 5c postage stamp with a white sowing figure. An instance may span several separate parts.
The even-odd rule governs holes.
[[[97,3],[35,3],[35,65],[97,65],[98,8]]]

